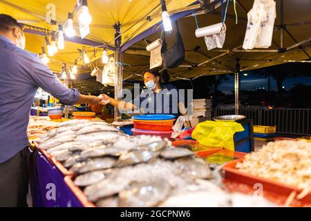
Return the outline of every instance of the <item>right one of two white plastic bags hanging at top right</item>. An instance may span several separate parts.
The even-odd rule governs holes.
[[[261,23],[256,38],[255,48],[269,48],[272,44],[274,21],[276,19],[276,3],[274,0],[261,0],[267,15],[267,20]]]

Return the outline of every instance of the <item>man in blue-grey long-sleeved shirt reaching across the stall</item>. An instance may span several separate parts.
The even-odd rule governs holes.
[[[30,107],[40,87],[63,104],[100,104],[63,86],[38,55],[25,49],[21,25],[0,15],[0,206],[27,206]]]

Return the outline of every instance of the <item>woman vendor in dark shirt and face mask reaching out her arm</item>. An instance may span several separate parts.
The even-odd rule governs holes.
[[[140,110],[140,113],[144,114],[168,114],[175,115],[176,118],[182,115],[186,119],[187,127],[191,127],[185,102],[178,93],[178,88],[173,84],[162,84],[158,70],[145,70],[143,77],[147,89],[142,90],[131,102],[118,101],[108,95],[102,95],[102,104],[111,104],[119,111]]]

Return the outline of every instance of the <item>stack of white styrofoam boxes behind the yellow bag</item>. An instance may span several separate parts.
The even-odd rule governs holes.
[[[191,125],[211,120],[211,99],[194,99],[192,101]]]

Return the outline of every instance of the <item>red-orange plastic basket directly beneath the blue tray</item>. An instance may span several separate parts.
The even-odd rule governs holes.
[[[145,131],[171,131],[175,119],[167,120],[137,120],[133,119],[134,128]]]

